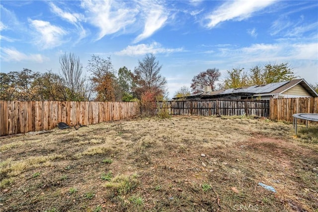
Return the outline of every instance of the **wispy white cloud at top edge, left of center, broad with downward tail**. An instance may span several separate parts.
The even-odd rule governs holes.
[[[87,20],[100,30],[96,40],[124,30],[136,21],[138,13],[138,10],[129,8],[125,1],[83,0],[81,6],[87,9]]]

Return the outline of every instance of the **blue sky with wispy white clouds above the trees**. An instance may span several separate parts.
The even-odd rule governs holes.
[[[0,72],[59,73],[65,53],[86,76],[92,55],[132,72],[147,53],[162,65],[169,97],[200,72],[288,62],[318,83],[318,1],[1,0]]]

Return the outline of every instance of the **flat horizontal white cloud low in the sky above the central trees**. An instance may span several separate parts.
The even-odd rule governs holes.
[[[135,46],[127,46],[125,49],[115,52],[116,55],[128,55],[128,56],[135,56],[135,55],[144,55],[147,53],[173,53],[173,52],[182,52],[184,51],[183,48],[176,48],[176,49],[167,49],[163,48],[161,44],[157,42],[153,42],[152,44],[138,44]]]

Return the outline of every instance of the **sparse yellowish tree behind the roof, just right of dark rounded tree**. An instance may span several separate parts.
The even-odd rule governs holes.
[[[232,69],[232,71],[227,71],[228,76],[224,80],[224,88],[241,88],[248,85],[247,73],[244,72],[244,69]]]

